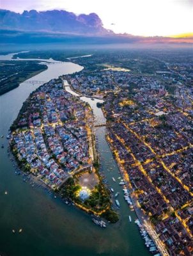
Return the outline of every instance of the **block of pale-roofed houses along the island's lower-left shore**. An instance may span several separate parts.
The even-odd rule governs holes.
[[[67,173],[59,168],[47,151],[40,128],[17,132],[13,141],[18,152],[17,157],[24,164],[24,168],[28,167],[27,170],[42,179],[45,184],[59,186],[67,177]]]

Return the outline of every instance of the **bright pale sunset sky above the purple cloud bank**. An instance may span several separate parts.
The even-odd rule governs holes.
[[[193,32],[193,0],[0,0],[0,8],[95,12],[115,33],[171,36]]]

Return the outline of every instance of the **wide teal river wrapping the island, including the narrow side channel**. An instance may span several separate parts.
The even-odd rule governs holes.
[[[13,54],[0,56],[0,60],[11,60]],[[43,60],[42,60],[43,61]],[[44,60],[54,61],[54,60]],[[49,81],[62,74],[72,74],[82,67],[70,62],[47,64],[48,69],[31,77],[31,81]],[[0,96],[0,138],[4,148],[0,148],[0,254],[8,256],[148,256],[144,240],[134,223],[135,213],[131,212],[123,199],[123,191],[118,185],[118,166],[105,141],[105,127],[96,128],[96,140],[100,154],[100,164],[114,191],[119,191],[120,221],[102,229],[96,226],[85,212],[63,204],[59,198],[40,188],[32,188],[15,175],[12,161],[6,148],[6,134],[17,117],[22,103],[40,84],[21,83],[18,88]],[[68,88],[69,89],[69,88]],[[69,89],[70,90],[70,89]],[[96,123],[105,122],[96,102],[89,102]],[[112,181],[114,177],[117,181]],[[7,191],[7,195],[5,194]],[[128,221],[132,216],[132,222]],[[19,234],[18,230],[22,228]],[[12,229],[17,232],[12,233]]]

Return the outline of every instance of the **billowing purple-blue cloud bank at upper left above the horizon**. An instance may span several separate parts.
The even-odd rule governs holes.
[[[0,28],[22,31],[52,31],[72,34],[105,35],[113,33],[103,28],[96,13],[75,15],[63,10],[15,13],[0,9]]]

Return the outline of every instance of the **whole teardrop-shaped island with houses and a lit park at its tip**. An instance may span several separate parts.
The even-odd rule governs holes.
[[[66,92],[61,79],[31,93],[11,131],[10,147],[24,172],[66,202],[112,223],[118,221],[98,173],[91,108]]]

